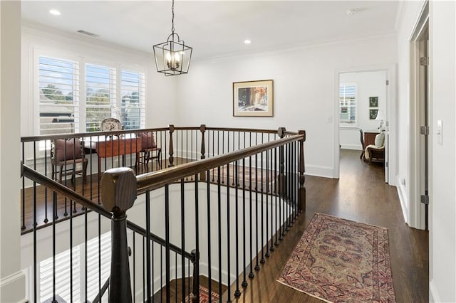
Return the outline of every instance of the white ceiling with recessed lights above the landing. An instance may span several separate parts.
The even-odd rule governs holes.
[[[175,2],[175,32],[193,58],[395,33],[399,1]],[[57,9],[60,16],[49,14]],[[348,9],[356,14],[347,16]],[[171,1],[22,1],[25,23],[152,52],[171,33]],[[250,39],[251,44],[244,44]]]

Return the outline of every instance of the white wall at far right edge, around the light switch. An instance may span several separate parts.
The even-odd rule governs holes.
[[[432,175],[430,291],[435,302],[456,302],[456,4],[430,2]],[[442,143],[437,120],[443,122]]]

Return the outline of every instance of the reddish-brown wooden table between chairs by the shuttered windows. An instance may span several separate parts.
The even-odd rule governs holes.
[[[101,158],[122,156],[122,165],[125,166],[125,155],[136,154],[142,149],[141,137],[113,137],[105,138],[104,141],[95,143],[95,151],[98,154],[98,176],[101,177]]]

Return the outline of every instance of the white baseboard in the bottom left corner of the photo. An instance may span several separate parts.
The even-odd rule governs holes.
[[[28,302],[24,272],[19,271],[0,280],[0,302]]]

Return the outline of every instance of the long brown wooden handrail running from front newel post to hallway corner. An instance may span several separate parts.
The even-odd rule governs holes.
[[[136,176],[138,194],[160,188],[162,186],[165,186],[165,184],[185,178],[186,176],[198,174],[201,171],[207,171],[208,169],[212,169],[217,166],[229,164],[233,161],[244,159],[247,156],[253,156],[254,154],[259,154],[262,151],[266,151],[274,147],[281,147],[287,143],[302,140],[303,138],[304,134],[296,134],[294,136],[277,139],[273,142],[258,144],[254,147],[247,147],[245,149],[237,151],[230,151],[227,154],[213,156],[208,159],[202,159],[179,166],[162,169],[160,171],[153,171],[147,174],[138,175]]]

